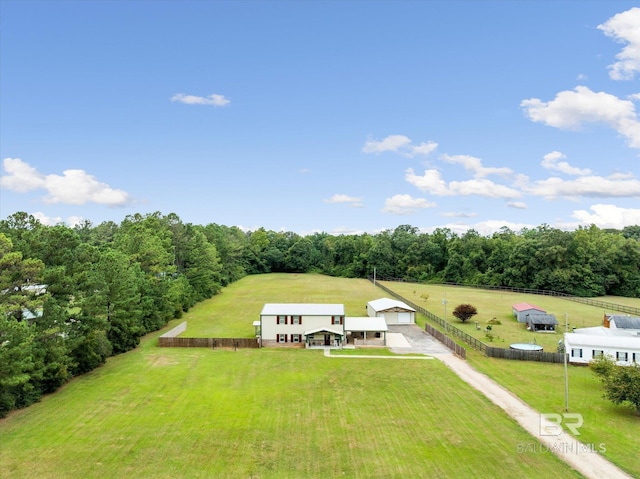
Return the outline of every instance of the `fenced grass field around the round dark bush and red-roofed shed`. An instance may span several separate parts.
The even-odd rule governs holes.
[[[601,326],[604,316],[602,308],[575,303],[553,296],[465,288],[462,286],[393,282],[382,282],[382,284],[440,317],[444,317],[442,300],[446,295],[447,321],[470,336],[494,347],[508,348],[511,343],[535,342],[543,346],[545,351],[556,352],[558,341],[562,339],[562,333],[565,332],[565,314],[567,314],[569,329],[572,327]],[[424,301],[421,297],[422,294],[428,294],[429,299]],[[627,298],[624,303],[617,297],[599,299],[640,307],[640,299],[637,298]],[[547,311],[547,313],[555,315],[559,323],[556,326],[557,332],[554,334],[527,331],[524,323],[518,323],[511,311],[511,306],[520,302],[534,304]],[[462,303],[470,303],[478,309],[478,314],[465,323],[462,323],[452,314],[455,307]],[[488,321],[493,318],[499,320],[501,324],[492,326],[494,339],[489,341],[486,338],[485,328]],[[422,324],[424,324],[424,321],[424,318],[422,318]],[[480,330],[476,329],[476,321],[479,323]]]

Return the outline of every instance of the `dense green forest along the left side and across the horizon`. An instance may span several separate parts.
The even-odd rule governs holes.
[[[245,275],[363,278],[374,268],[384,278],[640,297],[640,226],[300,236],[193,225],[173,213],[70,228],[18,212],[0,221],[0,417]]]

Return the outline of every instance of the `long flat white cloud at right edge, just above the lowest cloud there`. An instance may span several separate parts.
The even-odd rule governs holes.
[[[640,181],[629,175],[581,176],[572,180],[548,178],[527,187],[528,193],[547,199],[558,197],[640,197]]]

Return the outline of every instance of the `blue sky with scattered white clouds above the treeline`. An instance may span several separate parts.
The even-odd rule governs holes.
[[[624,1],[0,2],[0,217],[640,224]]]

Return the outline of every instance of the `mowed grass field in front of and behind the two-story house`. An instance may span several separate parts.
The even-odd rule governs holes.
[[[249,277],[199,307],[251,324],[234,305],[272,288],[271,302],[356,315],[381,295],[351,281]],[[159,334],[0,420],[2,477],[580,477],[548,452],[519,453],[535,440],[437,360],[158,348]]]

